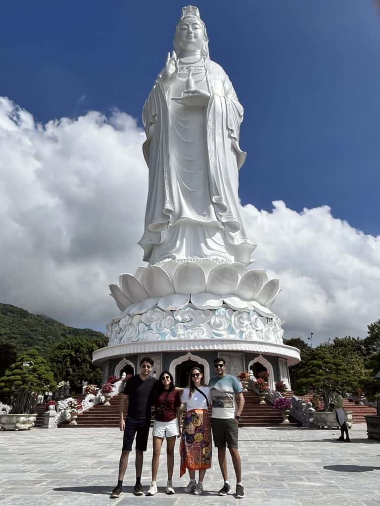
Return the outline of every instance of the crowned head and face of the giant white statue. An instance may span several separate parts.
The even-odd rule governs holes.
[[[201,56],[209,58],[206,25],[201,19],[198,7],[182,7],[182,16],[175,27],[173,44],[179,58],[189,51],[200,51]]]

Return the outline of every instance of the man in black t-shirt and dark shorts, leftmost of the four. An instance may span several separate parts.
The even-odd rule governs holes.
[[[140,361],[140,374],[131,376],[124,388],[120,399],[119,428],[124,431],[123,448],[119,462],[119,478],[117,486],[112,490],[111,497],[120,497],[123,492],[123,478],[128,466],[129,453],[136,436],[136,484],[133,489],[135,495],[143,495],[141,487],[141,471],[148,441],[150,427],[150,393],[157,379],[149,374],[152,371],[154,361],[150,357],[144,357]],[[124,404],[129,397],[128,413],[124,421]],[[136,435],[137,434],[137,435]]]

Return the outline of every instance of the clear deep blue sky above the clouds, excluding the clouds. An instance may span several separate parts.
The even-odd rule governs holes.
[[[138,118],[183,2],[5,3],[0,95],[38,121]],[[245,108],[240,196],[327,204],[378,235],[380,15],[370,0],[198,2],[211,58]]]

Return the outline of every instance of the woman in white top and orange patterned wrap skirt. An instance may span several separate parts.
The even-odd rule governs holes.
[[[203,478],[206,469],[211,467],[211,430],[208,406],[211,404],[210,389],[205,385],[203,373],[193,367],[189,373],[188,387],[181,395],[186,403],[186,414],[183,418],[182,438],[180,444],[181,468],[180,476],[186,469],[190,482],[183,490],[189,494],[203,494]],[[195,472],[199,471],[198,483]]]

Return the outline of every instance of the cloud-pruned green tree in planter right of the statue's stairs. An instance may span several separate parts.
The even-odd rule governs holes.
[[[333,390],[347,392],[357,386],[357,379],[344,362],[334,358],[326,348],[316,348],[299,370],[296,391],[300,394],[312,391],[321,395],[325,411],[332,411]]]

